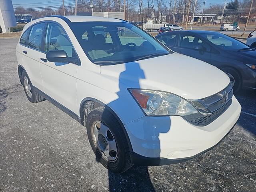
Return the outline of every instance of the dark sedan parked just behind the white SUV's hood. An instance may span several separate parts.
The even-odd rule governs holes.
[[[171,50],[200,59],[224,71],[235,92],[242,87],[256,89],[256,49],[212,31],[174,31],[156,38]]]

